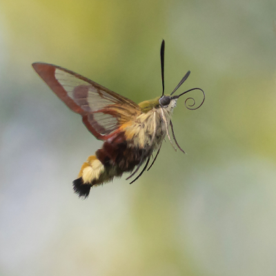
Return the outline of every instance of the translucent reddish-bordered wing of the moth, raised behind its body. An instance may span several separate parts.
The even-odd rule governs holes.
[[[66,106],[82,116],[97,139],[108,139],[121,124],[141,113],[134,101],[75,72],[48,63],[32,66]]]

